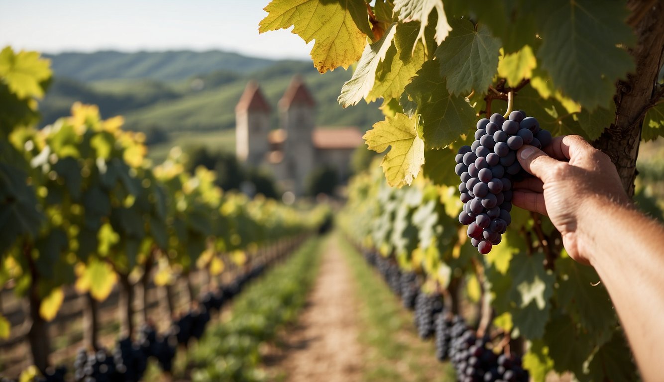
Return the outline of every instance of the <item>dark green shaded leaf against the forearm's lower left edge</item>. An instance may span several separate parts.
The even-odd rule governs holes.
[[[576,313],[581,326],[590,334],[603,336],[616,326],[616,314],[609,294],[592,267],[576,263],[571,257],[556,261],[558,304],[566,312]]]

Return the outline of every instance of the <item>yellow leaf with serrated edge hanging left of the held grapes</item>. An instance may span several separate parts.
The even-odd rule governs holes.
[[[390,186],[410,184],[424,164],[424,141],[415,125],[415,119],[397,113],[374,124],[363,137],[369,149],[378,153],[391,147],[380,163]]]

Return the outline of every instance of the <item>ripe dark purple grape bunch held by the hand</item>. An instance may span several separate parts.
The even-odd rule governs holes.
[[[459,192],[463,211],[459,222],[468,225],[468,237],[479,253],[487,254],[501,242],[512,218],[512,183],[525,176],[517,160],[523,145],[538,149],[551,143],[551,134],[521,110],[509,119],[495,113],[477,122],[475,142],[463,146],[456,155],[456,174],[461,177]]]

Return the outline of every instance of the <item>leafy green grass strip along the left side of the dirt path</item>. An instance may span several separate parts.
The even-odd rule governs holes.
[[[260,346],[297,319],[318,274],[321,239],[307,240],[284,263],[244,290],[191,352],[193,381],[263,381]]]

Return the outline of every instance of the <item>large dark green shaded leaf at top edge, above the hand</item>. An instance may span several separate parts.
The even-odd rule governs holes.
[[[544,3],[542,3],[544,4]],[[542,46],[537,56],[554,84],[590,111],[608,107],[619,78],[633,72],[633,58],[622,47],[634,34],[620,2],[546,2],[539,14]]]

